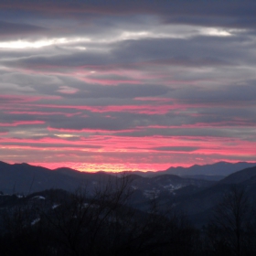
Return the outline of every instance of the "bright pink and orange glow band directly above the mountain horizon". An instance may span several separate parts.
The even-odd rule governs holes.
[[[185,150],[182,150],[182,147],[185,147]],[[192,151],[187,151],[187,147],[191,147]],[[37,140],[2,137],[0,150],[1,148],[5,148],[5,152],[10,152],[10,158],[2,160],[11,160],[12,155],[22,159],[24,155],[25,159],[30,159],[28,163],[31,165],[43,165],[51,169],[68,166],[87,172],[158,171],[165,170],[171,165],[205,165],[224,160],[235,163],[243,157],[252,159],[256,155],[254,142],[206,136],[134,138],[94,135],[80,137],[78,141],[69,141],[61,137]],[[34,153],[34,156],[31,155]]]

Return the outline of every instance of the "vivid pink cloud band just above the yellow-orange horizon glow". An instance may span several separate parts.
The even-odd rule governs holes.
[[[77,151],[91,153],[164,153],[172,152],[189,155],[256,155],[255,143],[240,139],[223,137],[116,137],[112,135],[93,135],[80,137],[80,140],[70,141],[63,138],[44,137],[41,139],[1,138],[0,144],[8,148],[30,148],[44,151],[47,145],[54,146],[58,151]],[[40,145],[40,146],[39,146]],[[51,145],[51,146],[50,146]],[[57,145],[61,145],[58,147]],[[184,150],[182,148],[185,148]],[[187,151],[187,148],[191,150]]]

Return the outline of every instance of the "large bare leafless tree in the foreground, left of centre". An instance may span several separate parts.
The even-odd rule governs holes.
[[[127,201],[131,195],[130,177],[122,176],[98,184],[93,191],[79,187],[41,215],[65,255],[99,255],[100,248],[107,252],[113,243],[118,244],[130,218]]]

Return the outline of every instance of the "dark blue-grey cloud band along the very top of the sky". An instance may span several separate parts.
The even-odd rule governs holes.
[[[130,14],[130,13],[156,13],[166,14],[169,16],[235,16],[253,17],[255,3],[250,0],[227,2],[215,1],[123,1],[122,3],[116,0],[108,1],[103,0],[88,1],[44,1],[35,3],[32,0],[23,1],[13,0],[12,3],[5,1],[1,4],[2,8],[13,9],[19,8],[20,10],[27,10],[30,12],[38,12],[39,14],[67,16],[82,14]]]

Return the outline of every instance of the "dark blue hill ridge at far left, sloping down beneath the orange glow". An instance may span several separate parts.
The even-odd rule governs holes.
[[[88,189],[93,184],[113,179],[105,173],[82,173],[69,168],[50,170],[41,166],[0,163],[0,190],[5,193],[24,193],[42,191],[50,188],[61,188],[74,191],[81,185]]]

